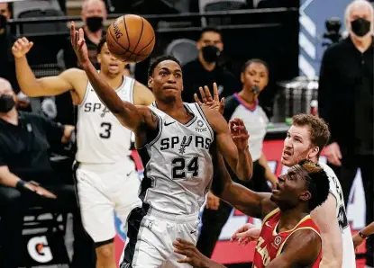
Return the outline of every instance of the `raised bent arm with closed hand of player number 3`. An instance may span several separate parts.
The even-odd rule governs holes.
[[[68,69],[59,76],[49,76],[37,79],[27,62],[26,54],[32,49],[33,43],[23,37],[14,42],[12,53],[14,55],[15,73],[18,85],[24,94],[37,97],[58,95],[73,90],[72,80],[81,79],[84,73],[78,69]]]

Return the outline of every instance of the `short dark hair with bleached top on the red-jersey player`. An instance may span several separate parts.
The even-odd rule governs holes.
[[[315,210],[327,200],[330,192],[329,178],[320,165],[310,160],[302,160],[298,163],[307,173],[307,187],[312,197],[308,202],[309,210]]]

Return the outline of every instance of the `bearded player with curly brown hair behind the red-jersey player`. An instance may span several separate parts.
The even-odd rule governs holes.
[[[206,94],[205,94],[206,93]],[[202,100],[212,109],[223,111],[223,103],[219,102],[218,94],[214,98],[209,91],[201,91]],[[195,95],[197,103],[200,103]],[[308,159],[318,163],[330,131],[324,120],[308,114],[297,114],[293,117],[293,124],[287,131],[284,142],[281,163],[282,165],[296,165],[298,161]],[[354,268],[356,267],[355,254],[351,241],[351,228],[345,211],[342,186],[336,174],[325,164],[320,164],[330,180],[330,194],[323,205],[313,210],[312,219],[321,230],[323,238],[324,255],[320,267],[326,268]],[[244,225],[233,234],[233,240],[240,240],[246,244],[251,240],[252,234],[260,234],[253,230],[250,224]],[[246,232],[251,229],[246,235]],[[240,234],[238,234],[240,233]],[[248,237],[249,239],[244,239]]]

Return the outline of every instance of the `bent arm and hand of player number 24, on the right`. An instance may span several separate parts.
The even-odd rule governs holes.
[[[224,160],[226,160],[240,180],[250,180],[253,172],[253,163],[248,149],[249,135],[242,121],[231,121],[232,136],[222,114],[205,106],[202,106],[202,109],[214,130],[217,146]]]

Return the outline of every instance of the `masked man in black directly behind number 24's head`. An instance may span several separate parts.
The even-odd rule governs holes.
[[[186,103],[194,103],[194,94],[204,85],[218,85],[220,97],[230,96],[239,90],[239,80],[227,69],[217,64],[217,59],[223,50],[221,31],[214,28],[205,28],[196,43],[199,50],[198,58],[188,62],[183,67],[183,92],[182,98]],[[213,93],[212,93],[213,94]]]

